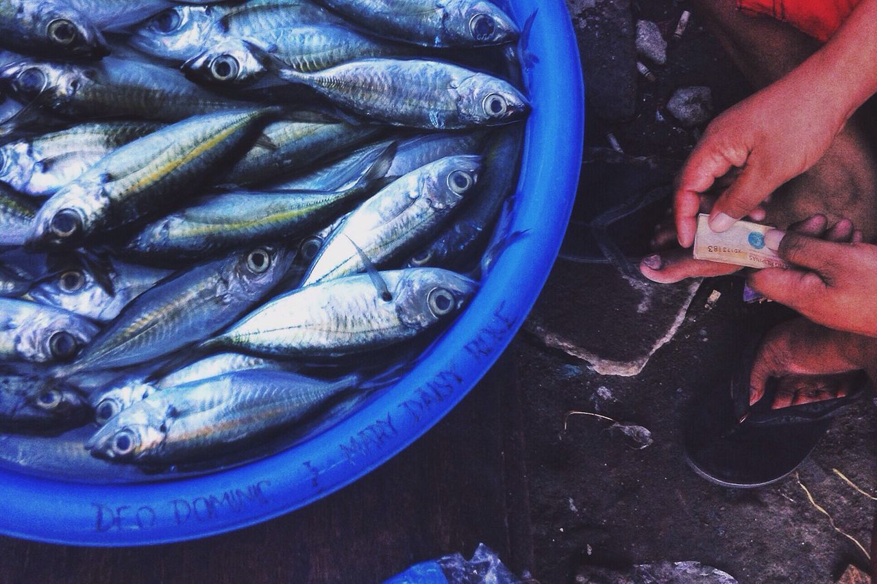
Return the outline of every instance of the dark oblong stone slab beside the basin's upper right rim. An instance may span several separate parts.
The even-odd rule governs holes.
[[[637,47],[630,0],[567,0],[579,41],[589,109],[608,122],[637,107]]]

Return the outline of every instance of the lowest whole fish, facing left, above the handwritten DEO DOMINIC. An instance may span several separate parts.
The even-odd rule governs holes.
[[[85,443],[96,457],[168,465],[252,444],[282,431],[360,384],[240,371],[169,388],[111,418]]]

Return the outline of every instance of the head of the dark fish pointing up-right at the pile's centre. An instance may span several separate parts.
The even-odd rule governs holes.
[[[295,259],[295,250],[286,246],[254,247],[226,261],[223,281],[229,294],[256,300],[282,281]]]

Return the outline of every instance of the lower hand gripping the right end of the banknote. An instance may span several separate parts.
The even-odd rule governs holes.
[[[852,228],[852,225],[850,225]],[[793,231],[768,231],[766,246],[792,265],[749,275],[749,286],[818,324],[877,337],[877,246],[824,241]]]

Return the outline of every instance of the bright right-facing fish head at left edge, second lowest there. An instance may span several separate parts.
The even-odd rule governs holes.
[[[32,363],[64,363],[73,360],[98,330],[86,318],[46,307],[18,326],[15,348]]]

